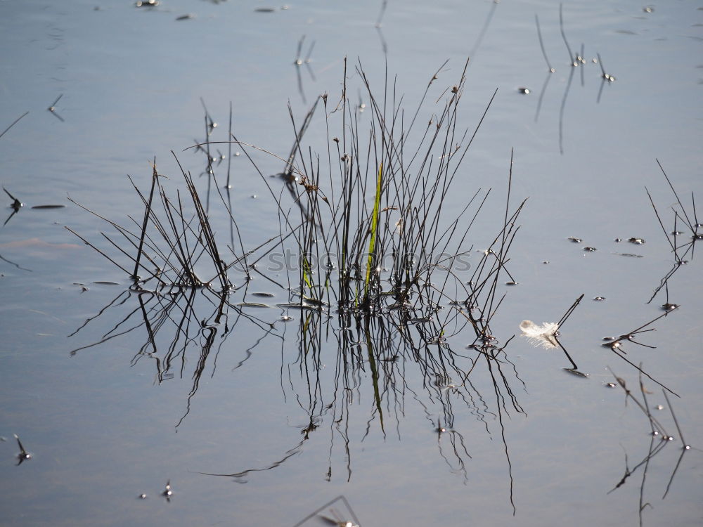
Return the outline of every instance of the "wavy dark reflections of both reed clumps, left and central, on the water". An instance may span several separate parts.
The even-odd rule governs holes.
[[[173,375],[191,377],[186,410],[177,427],[191,411],[191,399],[198,391],[202,375],[208,369],[212,371],[209,375],[215,375],[217,355],[228,349],[225,342],[231,334],[251,334],[252,330],[259,333],[235,369],[245,367],[253,349],[268,337],[280,340],[282,349],[290,346],[284,339],[285,330],[277,326],[278,315],[274,318],[266,312],[261,316],[247,313],[235,302],[239,294],[217,294],[210,289],[122,292],[71,336],[77,337],[98,318],[112,320],[115,317],[113,312],[118,309],[127,309],[127,315],[122,315],[99,341],[71,353],[75,355],[110,339],[134,335],[134,332],[141,334],[143,344],[131,359],[132,365],[140,360],[153,361],[158,383]],[[479,326],[483,317],[476,305],[468,311],[458,308],[452,311],[449,319],[443,316],[441,320],[437,317],[441,311],[437,310],[436,304],[428,304],[419,310],[391,310],[362,318],[349,313],[331,316],[334,313],[320,308],[300,311],[295,339],[297,356],[281,364],[280,377],[284,398],[298,401],[308,416],[308,422],[299,426],[299,441],[263,466],[210,475],[247,481],[248,476],[275,469],[297,455],[311,434],[327,427],[330,457],[325,477],[331,480],[336,471],[331,457],[335,443],[340,442],[342,450],[349,453],[354,436],[349,429],[349,417],[356,412],[359,403],[366,401],[368,393],[373,393],[373,405],[368,410],[366,432],[360,441],[373,427],[378,427],[383,436],[394,430],[400,439],[399,425],[406,398],[410,396],[425,412],[428,431],[433,429],[437,434],[439,455],[450,471],[461,474],[467,481],[466,462],[471,455],[464,434],[455,428],[457,412],[475,416],[481,428],[489,434],[494,426],[491,422],[498,421],[510,467],[503,419],[512,412],[524,412],[514,386],[515,382],[522,386],[522,381],[505,349],[510,339],[501,346],[495,337],[486,337],[486,330]],[[417,323],[418,318],[425,322]],[[465,329],[477,330],[473,343],[467,348],[471,353],[456,349],[449,344],[449,339],[436,338],[443,327],[454,323],[458,324],[457,335]],[[186,353],[192,354],[193,351],[195,360],[186,357]],[[330,364],[330,353],[335,357],[333,364]],[[288,353],[282,353],[282,356],[288,356]],[[188,370],[187,364],[195,366]],[[479,391],[473,382],[475,377],[485,375],[489,376],[493,386],[489,394]],[[479,384],[484,382],[485,377]],[[437,410],[431,410],[436,408],[440,409],[439,414]],[[345,479],[349,481],[352,462],[349,455],[346,459]]]

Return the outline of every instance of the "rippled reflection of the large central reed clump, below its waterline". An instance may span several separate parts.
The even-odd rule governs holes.
[[[516,374],[495,340],[482,344],[475,353],[466,353],[437,339],[439,332],[441,328],[434,320],[408,320],[397,311],[366,319],[347,315],[340,326],[320,311],[302,313],[297,357],[281,365],[282,386],[288,386],[285,398],[297,401],[307,414],[299,439],[272,462],[208,474],[246,481],[258,471],[287,462],[313,434],[327,429],[330,449],[326,478],[331,480],[337,474],[333,459],[341,455],[346,461],[344,479],[348,481],[353,474],[350,453],[354,443],[373,431],[384,438],[394,434],[400,439],[406,405],[415,401],[427,415],[427,433],[437,433],[439,455],[466,481],[471,455],[462,431],[454,427],[455,415],[474,415],[489,433],[498,422],[504,440],[503,419],[512,410],[522,412],[510,382]],[[332,350],[335,352],[330,358]],[[477,377],[481,383],[486,382],[486,376],[492,379],[492,404],[493,397],[486,398],[474,384]],[[349,425],[360,406],[368,414],[365,431]],[[507,454],[507,443],[505,450]]]

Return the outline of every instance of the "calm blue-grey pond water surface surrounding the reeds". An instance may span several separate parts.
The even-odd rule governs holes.
[[[29,112],[0,137],[0,525],[294,526],[318,509],[302,524],[335,514],[363,526],[702,523],[703,295],[691,236],[702,232],[692,197],[703,193],[703,4],[572,1],[562,27],[560,4],[546,0],[26,0],[1,1],[0,13],[0,130]],[[471,280],[503,228],[512,151],[511,214],[529,199],[494,308],[505,297],[488,313],[491,361],[467,349],[476,334],[449,305],[456,292],[434,297],[439,344],[417,346],[423,324],[404,333],[393,311],[345,328],[334,306],[286,305],[301,280],[271,258],[252,280],[230,273],[237,289],[219,321],[207,288],[138,294],[134,263],[101,232],[128,242],[76,204],[137,231],[128,216],[141,223],[143,203],[127,174],[148,193],[156,159],[168,195],[186,200],[177,158],[209,196],[229,263],[228,245],[254,249],[288,232],[279,213],[299,216],[271,177],[295,140],[289,104],[295,129],[327,93],[330,138],[378,130],[361,70],[379,105],[404,109],[398,130],[437,72],[413,141],[460,86],[450,144],[468,130],[466,145],[497,89],[439,230],[492,189],[461,245],[470,268],[456,276]],[[343,88],[346,124],[332,112]],[[262,150],[226,143],[230,108],[233,134]],[[188,149],[208,140],[219,142],[210,186],[202,150]],[[320,156],[331,196],[342,182],[325,172],[328,144],[320,102],[301,150],[306,166]],[[354,215],[373,209],[375,160]],[[228,167],[238,235],[215,191]],[[671,244],[688,263],[676,265]],[[439,269],[432,280],[444,278]],[[582,294],[560,344],[587,377],[520,331],[522,320],[556,323]],[[658,318],[665,303],[679,307]],[[602,346],[640,327],[637,342],[621,342],[626,353]],[[30,459],[20,463],[13,434]],[[348,505],[325,506],[338,496]]]

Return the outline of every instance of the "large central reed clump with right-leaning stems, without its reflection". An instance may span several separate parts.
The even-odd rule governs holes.
[[[445,296],[455,299],[456,292],[446,294],[450,281],[460,285],[471,303],[504,270],[522,204],[511,214],[506,208],[505,225],[479,262],[475,280],[464,284],[456,273],[456,262],[467,261],[467,235],[489,190],[467,195],[456,216],[446,214],[445,202],[493,98],[473,131],[460,129],[464,67],[456,84],[440,93],[438,110],[422,121],[420,110],[445,64],[432,75],[418,108],[406,112],[396,83],[386,77],[383,92],[375,93],[361,63],[356,77],[369,102],[361,108],[349,100],[345,61],[345,82],[335,106],[327,94],[321,96],[300,126],[290,112],[296,138],[281,176],[292,204],[269,185],[247,153],[262,149],[233,137],[269,186],[281,231],[293,232],[292,250],[299,255],[295,293],[302,304],[332,306],[361,317],[389,310],[410,316],[415,309],[437,306]],[[302,141],[320,105],[328,138],[322,155]],[[439,284],[432,280],[436,271],[442,275]]]

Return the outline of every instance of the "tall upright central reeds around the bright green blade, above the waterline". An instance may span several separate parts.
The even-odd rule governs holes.
[[[467,131],[458,131],[457,108],[465,82],[464,68],[458,84],[444,91],[444,108],[430,119],[415,142],[415,150],[408,154],[415,117],[405,127],[403,98],[396,93],[394,84],[391,86],[386,80],[382,98],[377,98],[361,64],[356,71],[370,100],[368,131],[363,130],[356,106],[347,100],[346,75],[342,98],[332,112],[328,113],[327,96],[322,97],[328,130],[330,118],[337,112],[341,114],[341,134],[330,141],[332,148],[327,149],[327,165],[330,169],[336,165],[339,183],[330,181],[329,188],[322,190],[326,177],[321,172],[320,157],[302,146],[302,134],[315,105],[299,129],[294,121],[296,141],[284,176],[294,193],[302,226],[295,236],[300,255],[301,301],[334,302],[342,310],[374,313],[387,304],[386,298],[402,305],[414,289],[421,296],[426,287],[423,284],[430,282],[430,275],[437,268],[437,252],[444,252],[455,235],[463,233],[461,241],[465,239],[466,231],[458,230],[458,225],[468,206],[446,226],[443,204],[483,117],[471,136]],[[436,79],[434,74],[430,84]],[[426,95],[427,91],[420,105]],[[462,144],[467,138],[468,142]],[[338,161],[333,163],[335,150]],[[262,171],[257,170],[264,178]],[[270,186],[269,190],[290,227],[292,220],[285,205]],[[373,197],[373,206],[367,196]],[[454,254],[462,252],[459,247],[453,250]],[[388,277],[382,277],[382,263],[387,263]],[[330,280],[333,269],[337,273],[336,285]],[[389,289],[385,281],[389,282]]]

